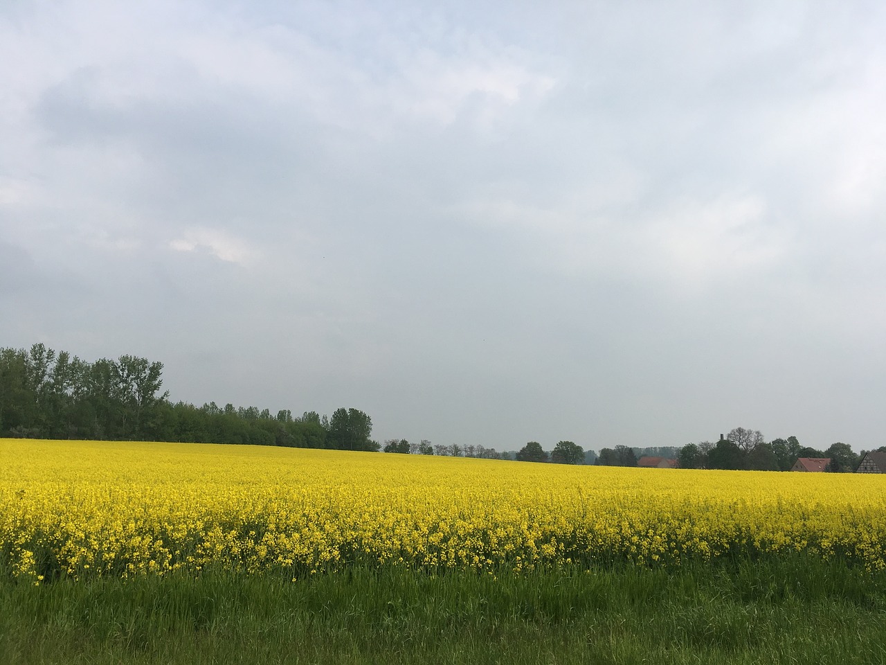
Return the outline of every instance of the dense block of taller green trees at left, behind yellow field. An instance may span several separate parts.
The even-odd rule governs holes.
[[[89,363],[42,343],[0,348],[0,436],[379,450],[363,411],[294,417],[230,403],[172,403],[160,392],[162,372],[162,363],[137,356]]]

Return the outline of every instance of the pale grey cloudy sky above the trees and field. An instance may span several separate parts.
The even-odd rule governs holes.
[[[0,347],[517,450],[886,443],[886,4],[0,3]]]

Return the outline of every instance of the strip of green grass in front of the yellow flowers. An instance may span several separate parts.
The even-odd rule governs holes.
[[[886,574],[777,559],[497,579],[4,579],[0,662],[886,663]]]

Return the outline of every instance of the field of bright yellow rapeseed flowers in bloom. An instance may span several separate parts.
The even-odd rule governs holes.
[[[886,477],[0,440],[0,569],[300,577],[812,552],[886,567]]]

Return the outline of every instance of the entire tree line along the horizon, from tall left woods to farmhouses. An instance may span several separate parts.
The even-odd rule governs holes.
[[[89,363],[42,343],[30,349],[0,348],[0,436],[46,439],[241,443],[296,448],[382,450],[373,441],[372,419],[340,408],[331,417],[289,410],[214,402],[195,406],[169,401],[161,392],[163,364],[138,356]],[[829,458],[829,471],[855,471],[857,455],[843,442],[828,450],[804,447],[796,436],[766,442],[758,430],[735,427],[719,442],[682,448],[618,445],[599,453],[560,441],[548,453],[539,442],[499,452],[482,445],[440,445],[422,440],[385,441],[385,452],[449,457],[516,459],[556,464],[636,466],[643,455],[676,458],[682,468],[789,471],[797,458]],[[886,452],[886,446],[879,449]]]

